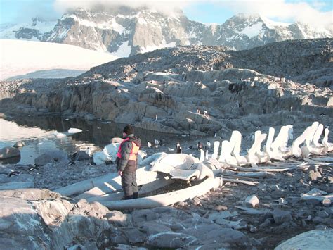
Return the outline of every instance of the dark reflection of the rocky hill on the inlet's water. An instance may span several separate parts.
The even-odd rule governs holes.
[[[6,120],[12,120],[18,125],[25,127],[39,127],[42,130],[57,130],[58,132],[65,132],[70,127],[76,127],[81,129],[82,132],[72,135],[72,139],[90,142],[100,147],[109,144],[112,137],[122,137],[122,129],[124,128],[124,124],[121,123],[105,122],[102,120],[91,121],[81,118],[66,120],[66,118],[59,115],[48,117],[20,116],[6,118]],[[166,143],[183,142],[189,139],[180,135],[164,134],[140,128],[136,128],[136,135],[141,138],[143,145],[147,145],[148,141],[154,142],[155,139],[164,139]]]

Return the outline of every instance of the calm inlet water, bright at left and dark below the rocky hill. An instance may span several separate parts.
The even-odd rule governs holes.
[[[83,130],[80,133],[56,137],[57,132],[67,132],[71,127]],[[124,124],[110,123],[103,120],[87,121],[79,118],[67,119],[60,116],[50,117],[15,117],[0,118],[0,149],[4,146],[13,146],[15,142],[25,142],[20,149],[21,158],[10,158],[0,163],[33,164],[34,158],[50,149],[61,149],[67,154],[78,150],[85,150],[89,146],[91,151],[100,151],[110,144],[112,137],[122,137]],[[168,142],[184,142],[195,137],[181,137],[181,135],[162,134],[149,130],[136,128],[136,135],[141,138],[143,146],[155,139],[164,139]]]

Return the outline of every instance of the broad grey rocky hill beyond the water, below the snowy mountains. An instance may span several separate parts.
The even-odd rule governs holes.
[[[161,49],[61,80],[51,92],[17,94],[1,106],[15,104],[11,111],[30,115],[76,113],[191,135],[253,132],[289,120],[330,124],[332,90],[317,83],[322,73],[332,73],[331,46],[332,39],[313,39],[248,51],[214,46]],[[313,82],[304,82],[312,71]]]

